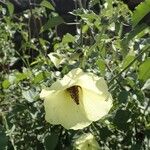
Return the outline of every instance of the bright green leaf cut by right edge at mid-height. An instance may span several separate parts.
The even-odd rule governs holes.
[[[139,79],[146,81],[150,78],[150,58],[144,61],[139,67]]]

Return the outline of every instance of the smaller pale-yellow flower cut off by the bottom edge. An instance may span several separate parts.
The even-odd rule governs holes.
[[[74,144],[77,150],[100,150],[100,146],[95,140],[95,137],[91,134],[83,134],[79,137]]]

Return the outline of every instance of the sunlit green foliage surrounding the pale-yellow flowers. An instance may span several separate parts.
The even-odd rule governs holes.
[[[0,150],[75,149],[84,133],[101,150],[150,148],[150,3],[141,1],[0,1]],[[46,123],[39,98],[76,67],[104,77],[114,99],[79,131]]]

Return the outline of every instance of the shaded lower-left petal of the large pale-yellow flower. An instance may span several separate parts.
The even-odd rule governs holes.
[[[45,119],[51,124],[61,124],[66,129],[82,129],[91,121],[86,118],[81,105],[77,105],[67,91],[47,94],[44,101]]]

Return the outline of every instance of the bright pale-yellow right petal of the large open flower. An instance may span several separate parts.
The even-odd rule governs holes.
[[[82,91],[82,106],[89,120],[97,121],[109,112],[112,107],[112,97],[109,92],[97,94],[87,89]]]

